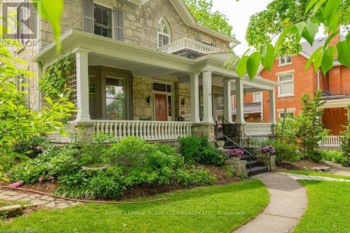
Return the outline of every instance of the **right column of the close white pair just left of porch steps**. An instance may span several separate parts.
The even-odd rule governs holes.
[[[211,93],[211,71],[204,71],[203,76],[203,122],[212,123],[213,94]]]

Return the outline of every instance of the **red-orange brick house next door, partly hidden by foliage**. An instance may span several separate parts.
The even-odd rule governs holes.
[[[334,67],[327,73],[325,78],[321,71],[314,71],[311,64],[307,70],[304,66],[309,56],[318,47],[324,45],[327,37],[318,38],[314,45],[301,43],[302,52],[297,55],[286,55],[279,57],[269,72],[262,69],[260,76],[267,80],[272,80],[280,84],[276,87],[276,119],[283,118],[284,108],[287,115],[298,115],[302,109],[300,101],[302,94],[311,96],[316,90],[323,91],[323,99],[326,101],[323,124],[330,129],[330,134],[339,135],[342,125],[346,125],[346,106],[350,104],[350,70],[342,66],[335,60]],[[338,37],[339,38],[339,37]],[[331,41],[330,44],[336,41]],[[246,94],[246,103],[251,103],[254,99],[261,98],[261,92]],[[267,93],[262,93],[262,108],[258,118],[264,122],[269,122],[269,103]],[[261,111],[262,109],[262,111]],[[246,118],[257,119],[257,116],[246,115]]]

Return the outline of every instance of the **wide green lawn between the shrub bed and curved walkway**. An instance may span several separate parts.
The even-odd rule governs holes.
[[[39,232],[231,232],[269,202],[258,180],[173,192],[166,202],[137,205],[83,204],[37,211],[2,229],[30,227]],[[1,222],[0,222],[1,223]]]

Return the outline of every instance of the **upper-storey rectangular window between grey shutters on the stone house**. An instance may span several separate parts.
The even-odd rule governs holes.
[[[94,4],[94,34],[112,38],[112,9]]]

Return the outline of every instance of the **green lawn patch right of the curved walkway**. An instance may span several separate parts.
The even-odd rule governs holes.
[[[307,189],[308,206],[294,233],[349,232],[350,183],[299,182]]]

